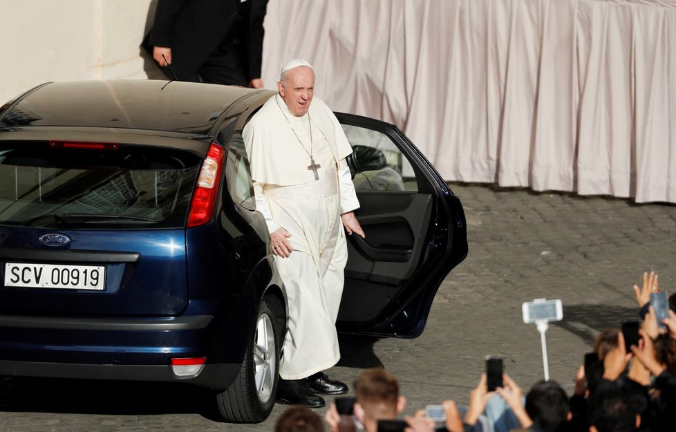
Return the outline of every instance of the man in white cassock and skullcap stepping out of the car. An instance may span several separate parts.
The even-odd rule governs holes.
[[[318,394],[348,391],[322,370],[340,358],[335,323],[348,259],[344,231],[364,232],[345,160],[352,148],[332,111],[312,97],[312,66],[288,62],[277,87],[243,131],[256,209],[271,233],[288,300],[276,401],[319,407]]]

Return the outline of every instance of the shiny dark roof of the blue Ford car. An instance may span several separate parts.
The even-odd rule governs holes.
[[[153,79],[50,82],[0,112],[0,128],[106,127],[207,135],[223,111],[252,93],[256,90]]]

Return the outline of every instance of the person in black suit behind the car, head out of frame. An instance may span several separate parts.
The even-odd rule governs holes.
[[[267,0],[158,0],[147,45],[180,81],[263,88],[266,10]]]

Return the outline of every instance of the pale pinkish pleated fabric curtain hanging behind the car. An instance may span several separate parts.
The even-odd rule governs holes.
[[[676,4],[270,0],[263,80],[311,62],[449,181],[676,203]]]

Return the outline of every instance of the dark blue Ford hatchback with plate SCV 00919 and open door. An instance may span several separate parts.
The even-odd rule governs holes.
[[[0,108],[0,375],[189,382],[265,420],[286,303],[241,132],[273,94],[60,82]],[[396,126],[338,117],[366,232],[339,332],[417,337],[467,255],[462,205]]]

